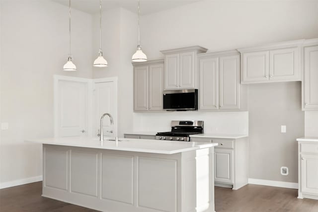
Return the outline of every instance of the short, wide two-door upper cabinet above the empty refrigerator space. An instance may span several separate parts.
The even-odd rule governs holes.
[[[301,81],[304,40],[239,49],[241,83]]]

